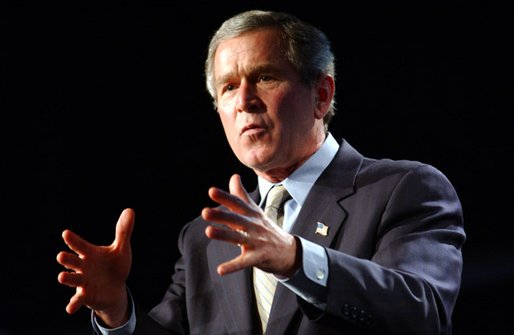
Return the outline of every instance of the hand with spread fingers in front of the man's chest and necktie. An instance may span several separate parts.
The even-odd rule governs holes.
[[[279,228],[250,198],[241,178],[230,178],[230,193],[216,187],[209,189],[209,197],[222,208],[204,208],[202,218],[224,227],[208,226],[207,237],[238,244],[241,254],[218,266],[220,275],[256,266],[266,272],[288,277],[300,263],[300,243]]]

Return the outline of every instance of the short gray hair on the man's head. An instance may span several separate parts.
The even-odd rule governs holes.
[[[205,61],[207,91],[217,107],[214,85],[214,55],[222,41],[249,31],[263,28],[276,29],[285,46],[284,52],[292,67],[308,87],[314,87],[320,76],[331,75],[335,80],[334,54],[330,41],[318,28],[287,13],[250,10],[227,19],[214,33]],[[335,114],[335,95],[325,115],[325,130]]]

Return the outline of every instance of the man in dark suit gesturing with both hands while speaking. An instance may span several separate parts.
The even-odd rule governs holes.
[[[88,306],[105,334],[450,334],[465,241],[457,194],[434,167],[366,158],[334,139],[326,36],[288,14],[244,12],[211,39],[205,71],[258,188],[234,175],[229,192],[209,189],[221,206],[184,226],[172,282],[148,315],[125,284],[134,212],[110,246],[65,231],[68,313]],[[282,228],[262,209],[280,186]],[[268,298],[254,286],[262,273],[278,281]]]

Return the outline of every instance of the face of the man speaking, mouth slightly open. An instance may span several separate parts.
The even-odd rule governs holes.
[[[227,140],[243,164],[269,180],[303,163],[319,147],[323,128],[316,89],[300,81],[281,49],[277,34],[263,29],[223,41],[214,59]]]

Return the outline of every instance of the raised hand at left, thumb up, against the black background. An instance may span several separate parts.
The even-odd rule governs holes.
[[[91,244],[70,230],[63,232],[64,242],[74,251],[57,254],[57,262],[69,270],[59,273],[57,280],[75,288],[66,306],[69,314],[87,306],[111,327],[128,319],[125,282],[132,263],[130,236],[134,215],[132,209],[121,213],[115,239],[109,246]]]

